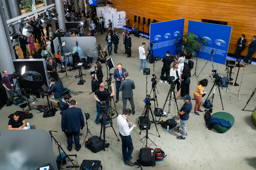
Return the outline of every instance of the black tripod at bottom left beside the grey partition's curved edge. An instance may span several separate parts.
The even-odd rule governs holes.
[[[67,161],[69,160],[72,165],[71,166],[66,166],[66,169],[71,169],[71,168],[75,168],[76,170],[79,170],[79,165],[78,165],[78,162],[77,162],[77,158],[76,158],[76,155],[67,155],[66,152],[63,150],[63,148],[60,146],[60,142],[58,142],[54,136],[52,135],[52,132],[57,132],[57,131],[53,131],[53,130],[50,130],[49,133],[51,135],[51,141],[52,139],[55,141],[55,144],[58,145],[58,150],[59,150],[59,157],[61,158],[61,154],[60,154],[60,149],[63,151],[63,153],[65,154],[65,157],[66,157],[66,164],[67,164]],[[75,156],[75,159],[71,159],[70,156]],[[65,165],[65,163],[63,163]],[[63,170],[63,167],[62,167],[62,161],[61,161],[61,169]]]

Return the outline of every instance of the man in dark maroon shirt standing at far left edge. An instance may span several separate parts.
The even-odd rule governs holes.
[[[13,83],[13,75],[8,75],[8,72],[6,70],[3,71],[4,77],[2,77],[2,84],[4,88],[7,89],[10,96],[13,96],[13,93],[16,93],[17,95],[21,96],[25,101],[27,101],[23,95],[20,95],[18,88],[15,88],[15,84]],[[17,77],[19,78],[19,77]],[[12,102],[15,106],[18,106],[18,103],[16,103],[14,97],[12,98]]]

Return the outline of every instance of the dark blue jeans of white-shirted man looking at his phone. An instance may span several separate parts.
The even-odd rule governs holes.
[[[122,140],[122,155],[125,163],[129,162],[133,153],[133,140],[131,135],[123,137],[119,132],[119,136]]]

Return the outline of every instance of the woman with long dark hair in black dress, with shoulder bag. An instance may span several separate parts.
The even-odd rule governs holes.
[[[186,94],[189,94],[189,84],[186,85],[184,83],[184,81],[187,79],[187,77],[190,77],[191,73],[190,73],[190,68],[189,65],[184,65],[184,69],[181,75],[181,87],[178,91],[178,94],[176,95],[176,98],[178,98],[178,96],[181,94],[181,96],[185,96]]]

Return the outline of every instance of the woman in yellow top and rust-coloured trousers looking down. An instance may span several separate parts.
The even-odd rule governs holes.
[[[196,91],[194,92],[194,98],[196,100],[196,104],[195,104],[195,108],[194,108],[194,114],[199,116],[200,114],[199,112],[203,112],[200,109],[200,106],[202,104],[202,95],[206,94],[206,92],[204,91],[204,87],[206,87],[208,85],[208,80],[207,79],[203,79],[201,81],[199,81],[197,83],[197,87],[196,87]]]

